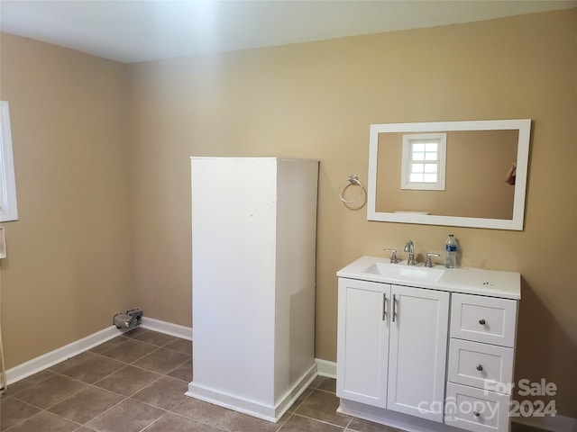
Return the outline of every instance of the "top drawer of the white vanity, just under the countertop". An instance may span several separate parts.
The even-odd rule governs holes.
[[[517,301],[453,294],[451,337],[502,347],[515,346]]]

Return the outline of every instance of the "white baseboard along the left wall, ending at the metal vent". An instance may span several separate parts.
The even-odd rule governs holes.
[[[87,351],[90,348],[103,344],[106,341],[116,338],[121,335],[122,331],[111,326],[88,335],[86,338],[78,339],[64,347],[50,351],[42,356],[32,358],[22,365],[14,366],[6,371],[6,382],[8,385],[16,383],[24,378],[37,374],[44,369],[59,364],[67,358],[77,356],[80,353]]]

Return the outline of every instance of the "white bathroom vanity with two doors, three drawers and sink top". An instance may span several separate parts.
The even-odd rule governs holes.
[[[520,275],[361,257],[337,272],[339,412],[507,432]]]

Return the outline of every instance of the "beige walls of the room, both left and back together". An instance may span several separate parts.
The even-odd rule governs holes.
[[[191,325],[190,156],[313,157],[317,357],[335,359],[338,268],[408,238],[439,250],[452,231],[463,265],[523,275],[517,379],[557,383],[558,410],[577,417],[576,32],[573,10],[137,64],[125,111],[122,67],[3,36],[21,142],[2,264],[9,366],[133,304]],[[338,199],[349,175],[366,182],[371,123],[509,118],[534,120],[523,231],[368,222]],[[31,315],[41,326],[21,326]]]

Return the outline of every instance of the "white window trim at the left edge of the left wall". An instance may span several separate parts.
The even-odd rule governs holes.
[[[16,181],[10,110],[6,101],[0,101],[0,222],[18,220]]]

